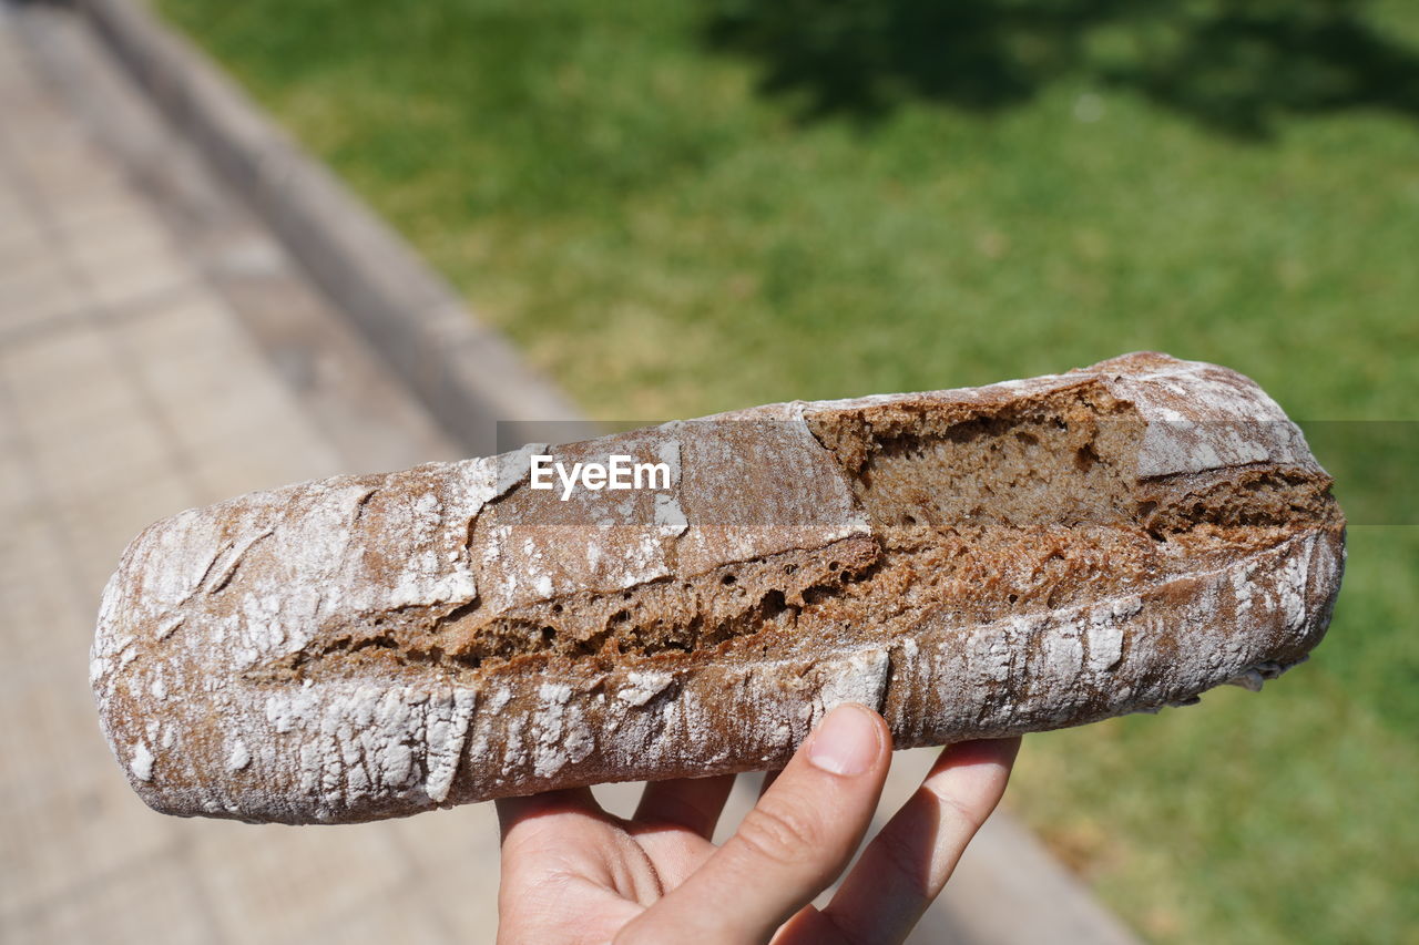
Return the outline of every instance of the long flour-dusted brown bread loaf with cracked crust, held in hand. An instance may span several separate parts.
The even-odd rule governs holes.
[[[617,455],[639,488],[566,485]],[[91,678],[150,806],[282,823],[768,769],[843,701],[897,748],[1078,725],[1303,660],[1330,487],[1254,383],[1152,352],[773,404],[184,511]]]

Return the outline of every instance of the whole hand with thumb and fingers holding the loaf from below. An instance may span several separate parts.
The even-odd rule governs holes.
[[[891,763],[883,718],[834,708],[722,846],[734,775],[647,785],[630,820],[587,788],[497,802],[498,942],[901,942],[1005,792],[1020,739],[945,748],[921,788],[832,885],[871,824]]]

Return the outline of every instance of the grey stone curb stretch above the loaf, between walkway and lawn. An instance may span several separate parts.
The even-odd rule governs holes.
[[[72,3],[464,448],[495,453],[498,421],[579,416],[397,234],[142,0]],[[502,433],[515,438],[507,426]]]

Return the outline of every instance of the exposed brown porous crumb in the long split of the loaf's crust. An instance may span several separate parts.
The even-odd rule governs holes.
[[[1338,515],[1330,478],[1252,464],[1139,480],[1145,424],[1101,386],[992,410],[921,404],[810,419],[870,536],[727,563],[617,593],[484,613],[478,602],[376,616],[261,673],[678,667],[962,627],[1105,599],[1284,541]]]

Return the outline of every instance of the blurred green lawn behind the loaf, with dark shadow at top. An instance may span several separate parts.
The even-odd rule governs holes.
[[[1142,348],[1233,366],[1303,420],[1416,419],[1419,9],[1401,0],[1057,34],[975,0],[973,71],[944,77],[894,65],[910,4],[837,37],[805,14],[807,52],[752,6],[684,0],[160,6],[602,419]],[[1341,17],[1325,43],[1267,44],[1315,9]],[[1200,61],[1189,30],[1226,57]],[[880,61],[849,65],[895,72],[844,92],[860,31]],[[1260,697],[1033,736],[1016,810],[1155,941],[1413,935],[1416,575],[1419,529],[1354,528],[1317,658]]]

